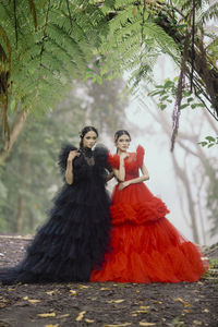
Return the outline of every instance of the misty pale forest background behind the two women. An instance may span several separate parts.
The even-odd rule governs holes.
[[[179,74],[166,56],[154,70],[156,84]],[[84,125],[95,125],[112,153],[113,134],[126,129],[132,135],[130,150],[145,148],[149,190],[167,204],[167,218],[191,241],[210,245],[218,241],[217,146],[202,147],[217,126],[205,108],[185,108],[180,118],[174,152],[170,152],[173,101],[165,110],[149,96],[154,84],[142,84],[126,96],[125,80],[75,83],[56,108],[29,116],[7,164],[1,167],[0,230],[27,234],[47,219],[52,198],[62,185],[58,155],[63,143],[78,145]],[[114,181],[108,184],[111,192]]]

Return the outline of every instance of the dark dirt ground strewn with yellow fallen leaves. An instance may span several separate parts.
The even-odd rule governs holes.
[[[0,266],[14,266],[28,237],[0,235]],[[218,244],[198,282],[0,286],[0,327],[218,327]]]

